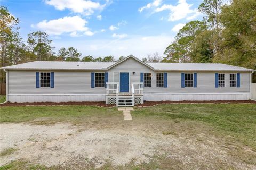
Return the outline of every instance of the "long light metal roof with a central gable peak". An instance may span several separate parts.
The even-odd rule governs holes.
[[[243,67],[216,64],[216,63],[145,63],[133,55],[129,55],[119,62],[62,62],[62,61],[35,61],[2,67],[6,70],[109,70],[112,67],[133,58],[137,62],[154,71],[241,71],[255,70]]]

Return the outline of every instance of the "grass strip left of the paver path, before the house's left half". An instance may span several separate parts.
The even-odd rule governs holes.
[[[56,122],[84,123],[93,118],[108,118],[113,121],[118,113],[116,108],[97,106],[7,106],[0,107],[1,123],[54,124]],[[120,115],[122,117],[122,115]],[[119,118],[119,117],[118,117]]]

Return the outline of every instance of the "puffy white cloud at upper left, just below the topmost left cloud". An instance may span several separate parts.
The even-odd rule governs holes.
[[[61,35],[62,33],[70,33],[71,37],[79,36],[79,32],[92,36],[93,32],[85,27],[86,20],[80,16],[66,16],[55,20],[43,20],[36,24],[36,27],[45,31],[49,35]],[[35,26],[34,26],[35,27]]]

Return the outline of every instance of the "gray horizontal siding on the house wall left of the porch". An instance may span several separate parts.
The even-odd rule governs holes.
[[[104,87],[91,88],[91,72],[53,71],[54,88],[36,88],[36,72],[9,71],[9,94],[105,94]],[[45,72],[45,71],[42,71]],[[50,71],[49,71],[50,72]]]

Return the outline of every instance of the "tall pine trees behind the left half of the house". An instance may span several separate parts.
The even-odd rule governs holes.
[[[51,45],[52,40],[43,31],[29,33],[25,41],[19,33],[19,19],[11,15],[4,6],[0,6],[0,15],[0,67],[31,61],[115,62],[114,56],[111,55],[98,58],[90,55],[82,57],[74,47],[60,48],[55,53],[55,47]],[[123,58],[124,56],[121,56],[119,60]],[[0,82],[5,82],[5,73],[3,70],[0,72]]]

